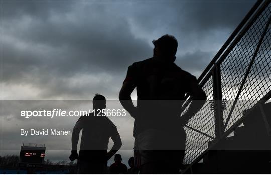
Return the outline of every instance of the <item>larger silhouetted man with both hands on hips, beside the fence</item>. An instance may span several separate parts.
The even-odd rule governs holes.
[[[123,107],[135,118],[134,157],[140,173],[178,173],[183,162],[186,134],[183,126],[206,101],[196,77],[174,61],[178,42],[164,35],[153,41],[153,57],[128,68],[119,93]],[[137,107],[131,93],[137,88]],[[181,115],[185,94],[191,105]]]

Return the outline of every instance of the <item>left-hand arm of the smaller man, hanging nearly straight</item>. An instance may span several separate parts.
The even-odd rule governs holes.
[[[78,140],[79,140],[79,134],[80,134],[80,131],[81,129],[83,128],[82,127],[82,121],[79,119],[73,130],[72,130],[72,151],[71,151],[71,155],[70,155],[70,160],[73,161],[75,159],[78,158],[78,154],[77,154],[77,144],[78,144]]]

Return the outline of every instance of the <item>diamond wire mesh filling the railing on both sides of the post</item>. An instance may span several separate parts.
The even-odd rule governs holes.
[[[239,31],[237,37],[240,38],[231,43],[228,47],[229,49],[232,46],[229,52],[225,51],[217,62],[221,70],[222,99],[227,100],[223,104],[225,131],[240,119],[243,110],[253,107],[271,91],[271,4],[268,1],[262,4],[264,5],[254,12],[258,15],[247,21],[246,24],[250,23],[250,25]],[[261,37],[263,40],[260,43]],[[258,52],[255,53],[257,47],[259,47]],[[249,68],[249,65],[252,66]],[[212,137],[216,137],[215,112],[210,101],[214,99],[215,87],[213,76],[208,75],[202,80],[205,82],[202,88],[207,95],[207,102],[189,121],[185,129],[187,134],[185,164],[192,163],[208,148],[208,142],[213,140]],[[234,100],[237,99],[238,102],[234,104]],[[188,107],[189,105],[183,113]]]

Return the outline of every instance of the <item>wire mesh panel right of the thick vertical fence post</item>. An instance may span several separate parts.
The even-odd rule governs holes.
[[[248,65],[255,52],[259,39],[268,22],[271,5],[262,12],[249,30],[243,35],[234,49],[221,63],[221,86],[223,98],[235,99],[241,82],[247,71]],[[269,41],[268,41],[269,40]],[[270,89],[270,27],[257,53],[252,68],[245,81],[241,94],[240,103],[235,105],[233,115],[230,117],[226,130],[232,126],[241,116],[243,109],[251,108]],[[269,71],[268,71],[269,70]],[[269,86],[268,86],[269,85]],[[233,101],[229,101],[224,111],[224,122],[226,121]]]

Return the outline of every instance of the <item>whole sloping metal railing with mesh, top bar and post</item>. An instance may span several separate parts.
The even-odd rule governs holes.
[[[233,132],[248,115],[244,109],[271,98],[270,21],[270,1],[257,1],[198,78],[207,102],[185,127],[184,164],[199,162],[209,141]],[[187,100],[183,113],[189,105]]]

